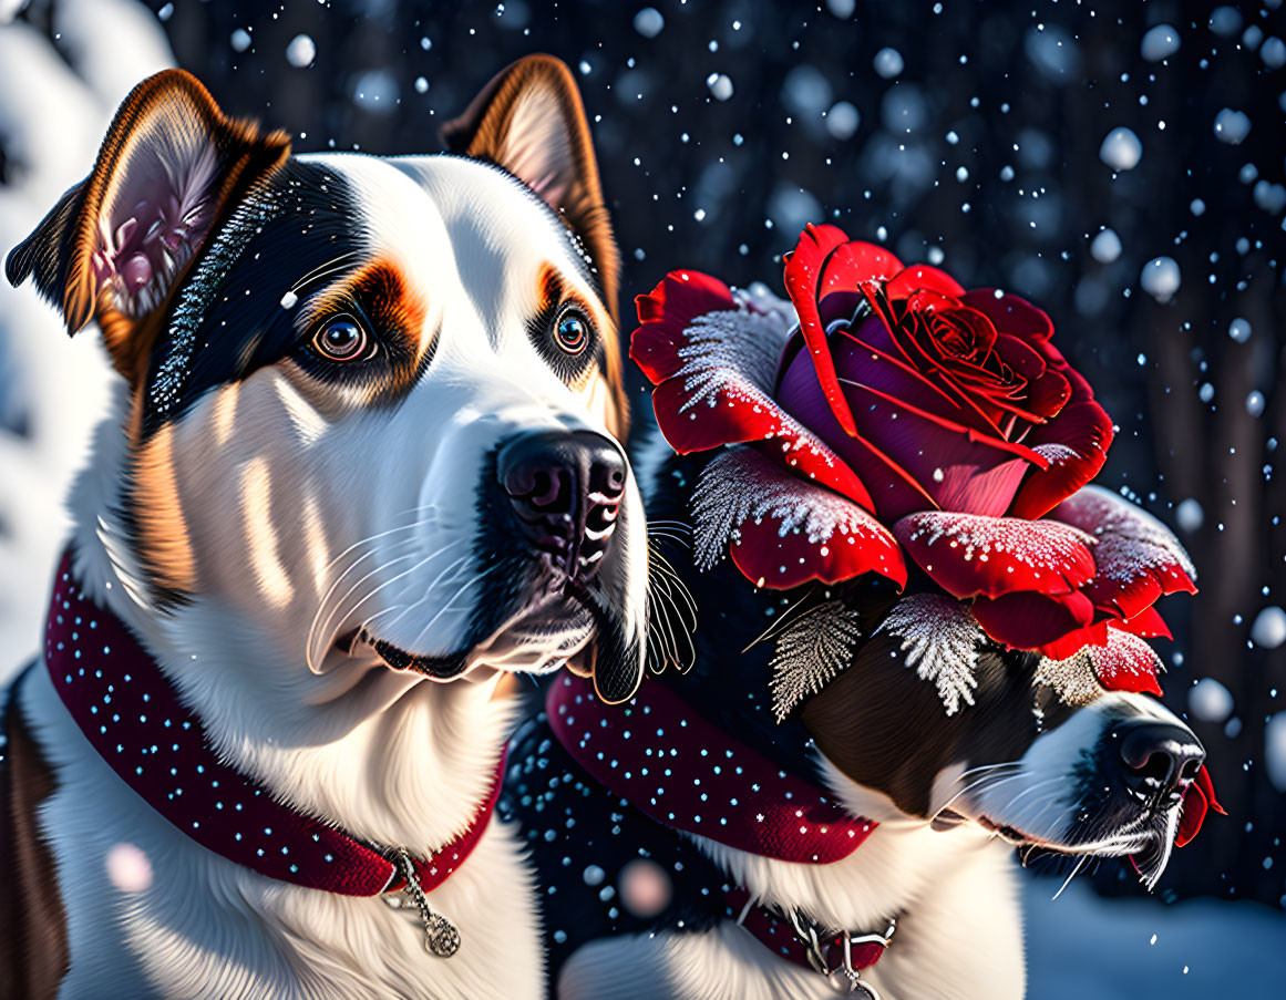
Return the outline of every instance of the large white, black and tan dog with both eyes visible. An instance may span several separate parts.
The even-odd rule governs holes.
[[[292,156],[165,72],[9,254],[121,378],[8,693],[0,994],[543,992],[489,820],[514,675],[643,668],[617,253],[561,63],[446,139]]]

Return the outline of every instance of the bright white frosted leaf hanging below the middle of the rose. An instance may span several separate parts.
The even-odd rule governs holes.
[[[876,629],[901,640],[907,666],[937,686],[946,715],[974,704],[977,644],[984,640],[974,616],[958,600],[941,594],[903,598]]]

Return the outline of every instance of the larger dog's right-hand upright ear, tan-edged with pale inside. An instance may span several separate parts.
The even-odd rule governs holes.
[[[571,69],[552,55],[518,59],[442,126],[442,141],[451,153],[509,171],[563,217],[589,252],[617,321],[620,254]]]

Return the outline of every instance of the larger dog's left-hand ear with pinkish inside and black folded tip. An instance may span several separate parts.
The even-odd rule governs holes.
[[[157,73],[121,104],[89,177],[9,254],[9,281],[33,276],[68,333],[98,320],[112,362],[138,384],[188,266],[289,152],[284,132],[225,117],[190,73]]]

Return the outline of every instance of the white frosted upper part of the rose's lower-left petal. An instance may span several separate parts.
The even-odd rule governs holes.
[[[706,467],[692,494],[692,513],[696,563],[702,571],[723,558],[739,524],[765,518],[779,522],[781,537],[799,531],[818,546],[840,535],[898,548],[887,528],[851,500],[781,469],[748,447],[729,449]]]

